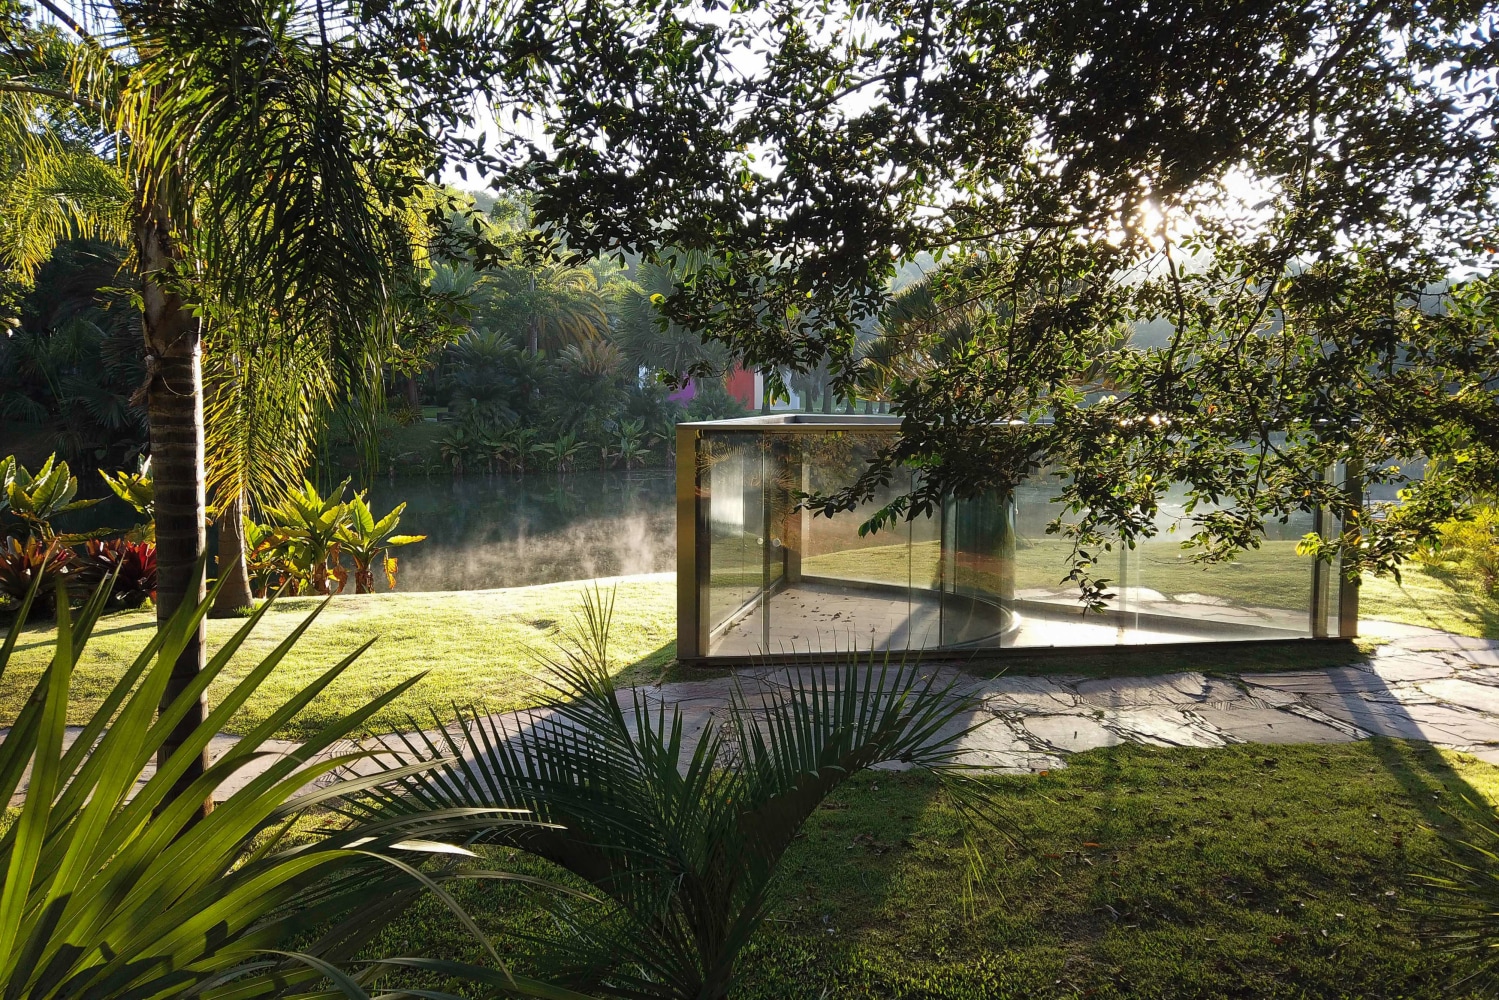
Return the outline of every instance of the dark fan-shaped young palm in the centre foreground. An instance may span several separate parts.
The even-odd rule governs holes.
[[[475,840],[567,868],[609,900],[598,919],[559,910],[562,975],[615,997],[721,1000],[764,922],[776,867],[817,805],[880,763],[955,777],[973,705],[910,664],[850,657],[787,672],[694,742],[678,706],[615,688],[613,597],[598,591],[550,660],[555,697],[523,724],[459,712],[393,750],[451,763],[361,793],[367,822],[426,810],[520,808],[555,826]],[[971,804],[968,798],[961,799]]]

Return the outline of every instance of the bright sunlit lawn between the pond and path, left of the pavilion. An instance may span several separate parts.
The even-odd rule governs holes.
[[[226,727],[243,733],[324,670],[373,639],[358,661],[307,706],[282,733],[297,739],[337,715],[366,705],[406,678],[426,678],[370,721],[373,729],[409,729],[408,714],[430,724],[429,709],[451,715],[453,703],[483,703],[493,711],[535,705],[544,670],[534,652],[555,649],[561,630],[582,607],[588,583],[552,583],[504,591],[369,594],[334,597],[249,703]],[[676,586],[670,577],[624,577],[603,583],[615,594],[610,651],[627,682],[655,679],[676,649]],[[208,691],[213,703],[276,648],[321,601],[276,601]],[[99,622],[73,675],[67,721],[82,724],[121,670],[145,646],[154,613],[124,612]],[[216,651],[246,619],[208,622]],[[51,657],[54,628],[22,633],[0,678],[0,726],[15,718]]]

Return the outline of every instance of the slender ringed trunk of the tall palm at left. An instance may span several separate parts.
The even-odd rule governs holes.
[[[145,408],[151,432],[151,466],[156,472],[156,621],[166,621],[184,601],[202,601],[205,579],[202,555],[204,529],[204,432],[202,432],[202,331],[198,318],[159,276],[180,259],[166,214],[154,205],[142,208],[136,223],[136,252],[141,283],[142,325],[150,382]],[[172,667],[162,694],[165,708],[181,694],[207,661],[207,628],[199,624],[195,642],[187,643]],[[189,711],[168,735],[157,754],[163,763],[207,715],[207,699]],[[180,795],[208,766],[207,753],[187,768],[172,789]],[[213,799],[202,813],[213,810]]]

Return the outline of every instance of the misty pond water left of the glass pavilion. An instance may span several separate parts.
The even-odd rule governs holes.
[[[477,591],[676,568],[667,469],[378,480],[376,514],[405,501],[391,555],[402,591]],[[381,583],[384,589],[384,583]]]

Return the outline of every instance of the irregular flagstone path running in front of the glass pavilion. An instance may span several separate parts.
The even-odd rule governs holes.
[[[1499,765],[1499,640],[1382,622],[1364,622],[1363,631],[1387,642],[1363,663],[1318,670],[977,678],[937,669],[977,703],[965,726],[982,724],[962,738],[964,759],[1007,772],[1063,768],[1069,754],[1121,742],[1222,747],[1369,736],[1423,739]],[[721,717],[735,682],[752,691],[755,684],[775,684],[776,673],[741,670],[735,678],[681,681],[643,693],[652,703],[679,706],[690,738],[696,738]],[[525,726],[534,717],[519,712],[493,723]],[[217,757],[232,742],[222,736],[210,753]],[[280,753],[295,748],[285,742],[267,747]],[[243,769],[220,795],[252,774]]]

